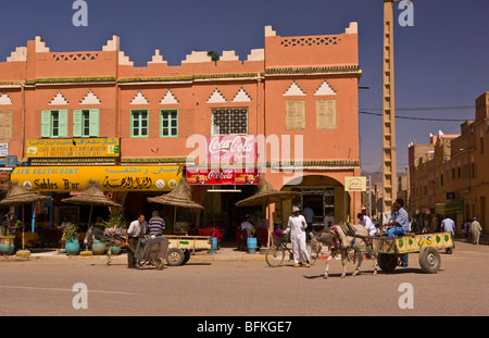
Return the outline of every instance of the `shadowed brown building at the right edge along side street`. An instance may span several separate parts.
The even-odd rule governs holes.
[[[461,125],[460,135],[430,136],[429,145],[409,148],[413,215],[422,225],[437,228],[450,216],[461,229],[477,217],[488,231],[487,196],[489,93],[476,99],[476,118]]]

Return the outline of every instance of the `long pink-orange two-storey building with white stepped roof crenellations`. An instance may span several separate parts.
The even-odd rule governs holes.
[[[344,179],[360,176],[356,23],[337,35],[299,37],[281,37],[266,26],[264,48],[242,61],[235,51],[223,51],[218,61],[192,51],[172,66],[163,55],[156,50],[147,66],[136,67],[116,36],[101,50],[80,52],[52,52],[40,37],[27,41],[0,63],[0,142],[30,168],[184,167],[192,135],[263,135],[267,143],[259,146],[256,158],[266,165],[263,177],[275,189],[301,192],[273,209],[276,222],[286,222],[292,203],[311,206],[315,222],[355,220],[360,192],[344,193]],[[39,140],[72,140],[76,147],[80,138],[116,139],[120,153],[36,158],[27,149]],[[12,179],[21,180],[18,173]],[[193,199],[205,206],[197,222],[233,229],[243,213],[254,212],[234,203],[255,186],[234,188],[241,192],[196,186]],[[149,213],[147,198],[162,191],[127,188],[113,197],[131,214]],[[52,208],[61,206],[61,198]]]

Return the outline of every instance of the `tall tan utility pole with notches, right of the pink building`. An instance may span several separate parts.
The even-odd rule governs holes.
[[[383,89],[383,212],[396,200],[396,115],[393,67],[393,2],[384,0],[384,89]]]

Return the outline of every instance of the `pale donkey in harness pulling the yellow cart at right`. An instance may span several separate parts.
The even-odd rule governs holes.
[[[323,275],[325,279],[328,278],[329,271],[329,262],[333,258],[336,258],[338,254],[341,255],[341,265],[343,267],[341,278],[347,276],[347,260],[350,260],[350,254],[353,252],[355,256],[359,259],[359,263],[356,264],[356,268],[353,272],[353,276],[356,276],[360,272],[360,266],[363,262],[363,253],[369,252],[372,255],[372,260],[374,263],[374,276],[377,275],[378,264],[377,264],[377,254],[376,252],[369,251],[372,249],[372,241],[365,236],[368,237],[368,230],[365,229],[362,225],[352,225],[354,228],[354,234],[350,229],[346,229],[349,231],[349,236],[346,234],[346,230],[340,225],[335,225],[330,228],[329,233],[319,233],[313,235],[311,237],[311,248],[315,252],[321,251],[321,245],[325,245],[329,249],[329,256],[326,260],[326,270]],[[350,226],[351,227],[351,226]],[[359,236],[359,237],[358,237]],[[361,248],[365,248],[366,250],[362,250]]]

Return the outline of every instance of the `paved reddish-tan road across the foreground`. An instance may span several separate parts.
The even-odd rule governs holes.
[[[310,268],[291,264],[272,268],[264,261],[203,262],[156,270],[128,270],[123,260],[0,260],[0,315],[177,315],[177,316],[328,316],[328,315],[489,315],[489,247],[456,243],[441,254],[438,274],[422,273],[417,254],[410,267],[372,276],[340,278],[333,261],[327,280],[324,261]],[[75,310],[83,283],[88,309]],[[403,283],[413,286],[412,298]],[[400,309],[399,299],[413,300]]]

